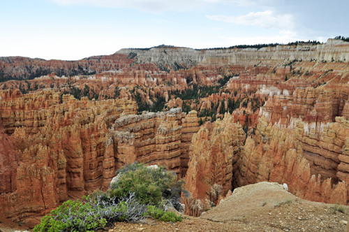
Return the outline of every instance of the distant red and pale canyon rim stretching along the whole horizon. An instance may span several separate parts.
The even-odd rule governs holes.
[[[329,39],[324,44],[299,43],[298,45],[277,45],[265,48],[222,48],[211,50],[193,50],[158,46],[149,50],[121,49],[114,55],[88,57],[78,61],[60,61],[31,59],[28,57],[0,57],[0,78],[2,80],[31,80],[43,75],[55,73],[59,77],[94,75],[91,79],[114,82],[156,82],[170,71],[174,79],[183,78],[183,69],[199,68],[203,75],[216,71],[221,66],[232,66],[232,70],[241,73],[248,68],[249,73],[271,73],[279,67],[276,75],[288,73],[287,68],[292,60],[306,62],[348,62],[349,43]],[[335,68],[329,68],[335,70]],[[264,70],[264,71],[262,71]],[[151,76],[163,71],[161,75]],[[218,73],[219,75],[221,73]],[[195,82],[200,80],[198,73],[191,73],[184,78]],[[217,75],[209,75],[216,78]],[[141,77],[145,78],[141,78]],[[156,80],[155,80],[156,79]]]

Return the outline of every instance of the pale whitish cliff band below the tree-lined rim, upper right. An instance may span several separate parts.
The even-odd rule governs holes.
[[[121,49],[115,54],[133,55],[135,62],[154,63],[157,66],[168,64],[172,69],[191,68],[197,64],[224,66],[247,64],[251,60],[263,60],[272,64],[285,59],[318,59],[348,61],[349,43],[329,39],[321,45],[279,45],[267,48],[193,50],[191,48],[172,48],[161,46],[149,50]]]

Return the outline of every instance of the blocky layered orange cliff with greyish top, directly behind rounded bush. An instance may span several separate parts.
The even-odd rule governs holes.
[[[179,177],[188,168],[188,146],[198,131],[195,110],[186,115],[181,108],[163,113],[144,113],[117,119],[112,126],[118,141],[117,166],[139,161],[165,165]]]

